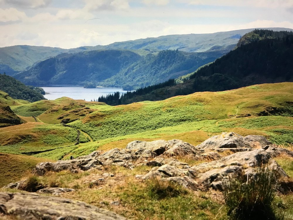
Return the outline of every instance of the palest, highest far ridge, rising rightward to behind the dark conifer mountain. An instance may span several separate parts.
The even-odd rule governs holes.
[[[157,38],[146,38],[116,42],[109,45],[98,45],[98,49],[125,49],[125,50],[181,50],[185,52],[205,52],[231,50],[239,38],[253,31],[255,28],[224,31],[209,34],[177,34]],[[259,28],[261,29],[261,28]],[[267,28],[273,31],[292,31],[289,28]]]

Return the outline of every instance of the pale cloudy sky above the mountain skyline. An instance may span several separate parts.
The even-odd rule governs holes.
[[[0,26],[0,47],[60,48],[170,34],[293,29],[293,0],[0,0]]]

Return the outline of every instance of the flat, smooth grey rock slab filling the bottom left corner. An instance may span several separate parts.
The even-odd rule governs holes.
[[[0,216],[23,220],[126,220],[111,211],[84,202],[35,193],[0,192]]]

